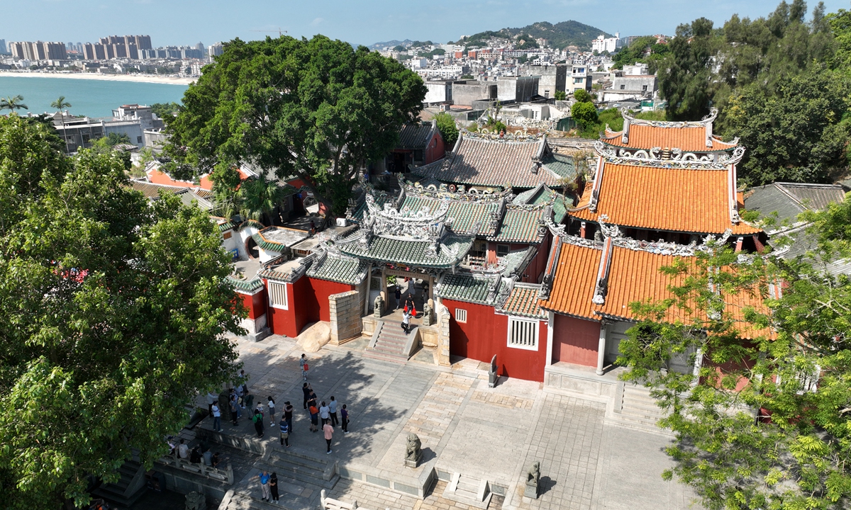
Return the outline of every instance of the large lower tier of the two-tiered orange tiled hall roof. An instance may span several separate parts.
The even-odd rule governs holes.
[[[603,163],[597,211],[585,207],[592,186],[570,214],[575,218],[639,229],[671,230],[700,234],[735,235],[760,231],[749,224],[730,221],[728,173],[725,170],[637,167]],[[584,208],[583,208],[584,207]]]

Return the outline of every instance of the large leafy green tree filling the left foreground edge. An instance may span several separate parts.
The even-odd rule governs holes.
[[[114,153],[71,159],[41,122],[0,117],[0,486],[4,508],[89,499],[149,465],[220,387],[243,310],[208,216],[128,187]]]

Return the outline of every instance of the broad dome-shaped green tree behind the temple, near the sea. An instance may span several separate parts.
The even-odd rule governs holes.
[[[298,175],[342,214],[360,168],[397,144],[425,95],[414,72],[368,48],[323,36],[236,39],[204,67],[168,124],[171,171],[251,161],[278,177]]]

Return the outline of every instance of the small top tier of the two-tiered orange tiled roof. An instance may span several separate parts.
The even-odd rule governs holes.
[[[642,124],[630,125],[627,143],[623,142],[623,131],[607,131],[601,140],[615,147],[650,150],[654,147],[661,149],[678,148],[684,152],[707,152],[711,150],[730,150],[737,144],[723,142],[712,135],[712,146],[706,146],[706,128],[703,126],[655,127]]]

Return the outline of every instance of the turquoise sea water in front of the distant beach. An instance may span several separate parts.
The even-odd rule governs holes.
[[[60,96],[71,103],[72,115],[90,117],[112,116],[112,109],[121,105],[152,105],[154,103],[180,104],[188,85],[174,83],[111,82],[106,80],[84,80],[54,77],[9,77],[0,76],[0,98],[24,96],[26,112],[54,112],[50,107]],[[8,113],[3,111],[2,113]]]

